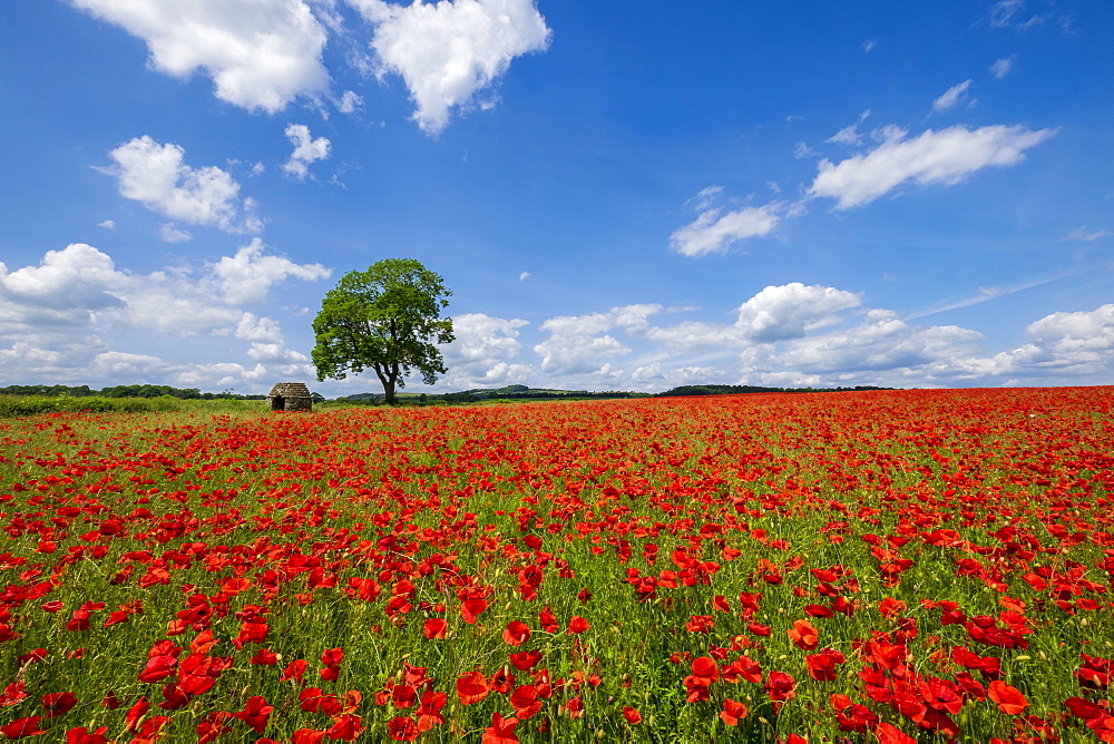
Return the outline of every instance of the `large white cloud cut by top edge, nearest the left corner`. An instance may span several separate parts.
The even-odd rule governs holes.
[[[275,112],[329,88],[325,29],[303,0],[70,0],[147,43],[150,66],[204,70],[221,100]]]

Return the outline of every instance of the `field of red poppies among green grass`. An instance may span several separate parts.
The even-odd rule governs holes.
[[[0,420],[0,741],[1114,742],[1114,389]]]

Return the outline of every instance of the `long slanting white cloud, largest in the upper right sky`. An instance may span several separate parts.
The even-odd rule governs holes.
[[[1009,166],[1025,158],[1025,150],[1045,141],[1054,129],[1024,126],[964,126],[928,129],[912,139],[897,127],[879,130],[882,141],[869,153],[833,164],[820,161],[809,196],[837,199],[837,209],[873,202],[906,182],[952,185],[989,166]]]

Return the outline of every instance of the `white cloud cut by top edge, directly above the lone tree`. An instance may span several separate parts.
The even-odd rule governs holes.
[[[549,28],[532,0],[349,1],[375,26],[377,74],[402,77],[417,107],[413,119],[432,135],[452,109],[489,90],[511,60],[549,47]]]

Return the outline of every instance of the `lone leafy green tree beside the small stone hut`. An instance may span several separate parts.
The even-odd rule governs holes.
[[[453,340],[452,319],[441,317],[451,294],[438,274],[413,258],[387,258],[365,272],[349,272],[325,294],[313,321],[317,381],[371,368],[388,403],[412,371],[433,384],[446,372],[434,344]]]

